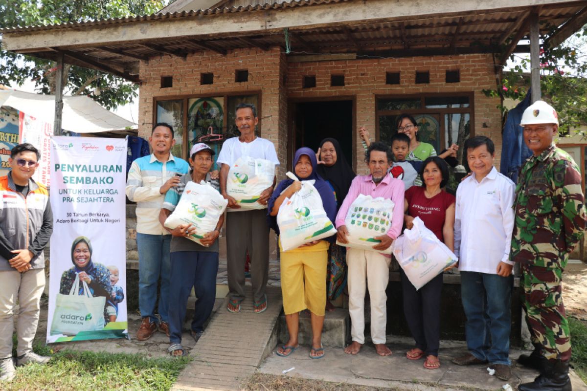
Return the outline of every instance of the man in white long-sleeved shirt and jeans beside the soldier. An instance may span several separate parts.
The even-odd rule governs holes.
[[[453,362],[489,362],[497,378],[508,380],[515,185],[495,169],[495,146],[490,138],[470,138],[464,149],[473,175],[457,188],[454,249],[460,256],[468,353]]]

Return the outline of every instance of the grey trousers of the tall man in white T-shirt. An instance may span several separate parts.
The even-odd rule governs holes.
[[[228,291],[231,300],[245,298],[245,261],[251,257],[253,300],[261,302],[269,274],[267,209],[228,212],[226,216]]]

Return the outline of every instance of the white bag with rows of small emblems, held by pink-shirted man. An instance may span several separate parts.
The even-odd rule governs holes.
[[[349,243],[340,243],[337,240],[336,244],[391,254],[391,246],[387,250],[373,250],[373,246],[381,242],[374,238],[386,234],[392,226],[393,206],[390,199],[359,194],[346,212],[345,225],[349,231],[346,239]]]

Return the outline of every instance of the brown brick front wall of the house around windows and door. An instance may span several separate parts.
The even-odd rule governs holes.
[[[237,69],[248,69],[249,81],[235,83]],[[446,70],[460,70],[460,83],[445,83]],[[214,52],[195,53],[183,60],[161,56],[142,62],[140,77],[143,85],[139,96],[139,135],[147,137],[153,121],[153,98],[189,94],[224,94],[234,91],[261,90],[261,133],[273,141],[279,160],[287,161],[287,100],[355,96],[356,124],[365,125],[375,135],[375,96],[380,94],[474,92],[474,128],[477,135],[487,135],[496,144],[498,164],[501,152],[501,115],[498,98],[485,97],[483,89],[495,88],[491,55],[407,57],[400,59],[360,59],[323,62],[288,63],[285,53],[275,47],[238,49],[227,56]],[[429,71],[430,83],[415,84],[416,70]],[[214,73],[214,84],[200,85],[200,73]],[[399,85],[386,84],[386,72],[400,72]],[[330,74],[344,74],[345,86],[330,87]],[[302,78],[316,76],[316,87],[302,89]],[[160,77],[173,76],[173,87],[161,89]],[[284,84],[285,81],[285,84]],[[362,164],[362,145],[356,134],[358,171]],[[281,175],[280,175],[281,176]]]

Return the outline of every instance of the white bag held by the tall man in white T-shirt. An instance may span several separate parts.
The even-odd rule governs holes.
[[[226,191],[237,200],[241,208],[228,208],[228,212],[267,208],[257,200],[266,188],[273,185],[274,178],[275,164],[273,162],[246,156],[238,158],[228,171]]]

